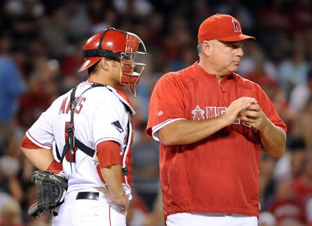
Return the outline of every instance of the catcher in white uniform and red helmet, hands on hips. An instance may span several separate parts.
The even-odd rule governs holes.
[[[21,143],[26,158],[45,170],[33,176],[38,200],[29,215],[50,210],[54,226],[127,225],[135,110],[121,89],[136,95],[146,66],[137,57],[146,53],[139,36],[116,28],[87,39],[78,70],[87,71],[87,80],[54,100]],[[46,172],[59,169],[68,180],[66,195],[64,178]]]

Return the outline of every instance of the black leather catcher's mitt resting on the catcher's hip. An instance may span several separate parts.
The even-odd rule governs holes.
[[[60,206],[67,190],[67,180],[60,174],[49,171],[34,171],[31,182],[37,188],[37,203],[28,209],[29,216],[39,216],[42,212]]]

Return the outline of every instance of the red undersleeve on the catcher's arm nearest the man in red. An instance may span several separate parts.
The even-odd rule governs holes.
[[[112,164],[122,165],[119,143],[114,141],[104,141],[96,146],[96,155],[100,169],[109,167]]]

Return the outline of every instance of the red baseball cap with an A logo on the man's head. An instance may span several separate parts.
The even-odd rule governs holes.
[[[200,24],[198,29],[198,43],[218,39],[219,41],[243,41],[254,39],[252,36],[243,35],[241,24],[230,15],[216,14]]]

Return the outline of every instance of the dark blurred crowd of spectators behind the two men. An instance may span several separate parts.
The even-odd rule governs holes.
[[[216,12],[241,22],[239,73],[257,82],[288,126],[286,154],[261,153],[259,225],[312,225],[312,8],[310,0],[3,0],[0,1],[0,225],[51,225],[29,218],[34,171],[19,144],[56,97],[87,79],[76,73],[86,39],[107,27],[144,40],[147,66],[132,99],[135,197],[129,226],[163,225],[158,143],[145,126],[159,77],[198,60],[200,23]],[[206,94],[209,95],[209,91]]]

